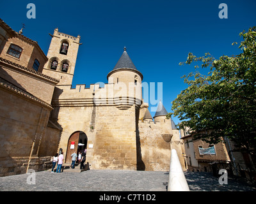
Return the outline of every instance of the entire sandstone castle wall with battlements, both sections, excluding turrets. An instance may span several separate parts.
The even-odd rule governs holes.
[[[109,87],[111,84],[102,88],[99,84],[90,88],[85,85],[55,88],[52,120],[63,128],[59,147],[64,154],[72,133],[83,131],[88,137],[86,162],[92,169],[168,171],[171,149],[176,149],[185,170],[183,143],[179,131],[172,129],[171,120],[159,116],[156,123],[137,119],[136,124],[136,117],[141,115],[136,114],[136,105],[117,103],[118,97],[111,100]]]

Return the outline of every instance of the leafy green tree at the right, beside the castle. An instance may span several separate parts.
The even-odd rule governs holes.
[[[256,27],[243,31],[241,54],[215,59],[188,54],[186,62],[196,63],[195,71],[184,75],[188,88],[172,101],[172,115],[209,143],[218,143],[227,136],[241,150],[255,155],[256,150]],[[236,42],[232,45],[237,44]],[[199,65],[199,66],[198,66]],[[207,69],[207,75],[198,71]],[[207,72],[207,71],[206,71]]]

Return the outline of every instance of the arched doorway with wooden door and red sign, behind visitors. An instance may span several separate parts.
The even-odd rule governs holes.
[[[65,163],[72,163],[71,154],[76,152],[78,155],[79,152],[83,152],[87,148],[88,138],[83,131],[74,132],[68,139],[68,147]]]

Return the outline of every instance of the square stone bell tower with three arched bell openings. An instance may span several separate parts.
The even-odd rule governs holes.
[[[76,58],[80,36],[70,36],[60,33],[58,28],[54,30],[43,72],[53,78],[60,80],[58,85],[71,85],[74,76]]]

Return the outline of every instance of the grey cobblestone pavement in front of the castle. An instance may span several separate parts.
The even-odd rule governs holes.
[[[228,179],[220,185],[211,173],[186,172],[191,191],[256,191],[255,186]],[[35,172],[35,184],[28,174],[0,177],[0,191],[166,191],[168,172],[89,170],[81,173]]]

